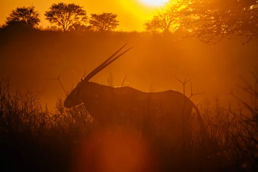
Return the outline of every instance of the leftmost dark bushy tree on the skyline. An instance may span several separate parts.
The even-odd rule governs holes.
[[[24,25],[29,28],[36,28],[40,22],[38,11],[34,6],[17,7],[6,17],[5,26]]]

